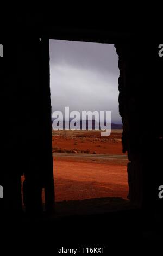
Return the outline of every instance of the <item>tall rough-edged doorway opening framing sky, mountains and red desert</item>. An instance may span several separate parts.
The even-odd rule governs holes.
[[[91,205],[114,200],[117,208],[128,195],[128,159],[122,154],[116,49],[113,44],[49,40],[49,51],[55,200]],[[101,121],[110,123],[109,136],[101,136],[95,115],[83,119],[87,111],[104,112]]]

